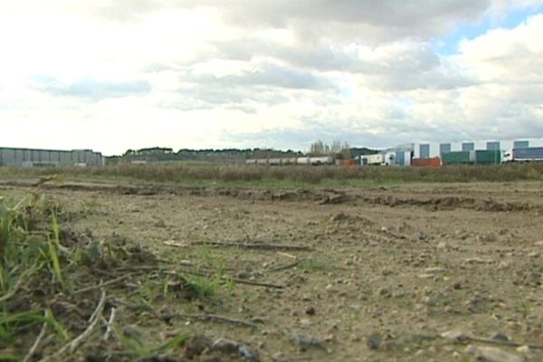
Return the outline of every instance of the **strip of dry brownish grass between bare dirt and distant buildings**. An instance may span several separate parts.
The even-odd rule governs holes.
[[[345,183],[405,182],[508,182],[540,181],[543,163],[492,166],[424,167],[266,167],[259,165],[226,165],[206,163],[154,163],[108,167],[69,168],[0,168],[0,176],[59,176],[78,178],[123,178],[144,182],[207,185],[214,183],[273,186]]]

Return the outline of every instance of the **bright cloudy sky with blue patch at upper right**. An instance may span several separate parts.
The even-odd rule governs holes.
[[[0,146],[543,137],[543,0],[0,2]]]

